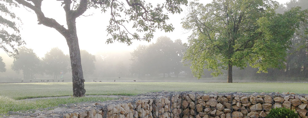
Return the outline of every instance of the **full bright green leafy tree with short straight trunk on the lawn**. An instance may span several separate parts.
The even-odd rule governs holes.
[[[299,25],[299,9],[276,14],[278,2],[273,0],[213,0],[203,5],[191,2],[183,27],[193,30],[188,39],[184,59],[201,78],[204,69],[213,76],[232,67],[283,68],[290,38]]]

